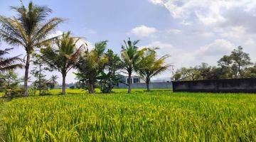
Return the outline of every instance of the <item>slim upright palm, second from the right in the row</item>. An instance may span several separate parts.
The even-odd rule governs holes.
[[[129,38],[127,41],[124,40],[124,45],[122,45],[121,58],[124,70],[126,70],[128,74],[128,93],[131,93],[132,72],[137,70],[144,52],[143,50],[139,50],[137,43],[139,43],[139,40],[132,41]]]

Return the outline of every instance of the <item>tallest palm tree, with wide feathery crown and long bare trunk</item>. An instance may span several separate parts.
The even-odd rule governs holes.
[[[63,22],[62,18],[46,18],[52,12],[46,6],[36,6],[32,2],[26,8],[21,6],[12,6],[11,9],[16,11],[17,16],[8,18],[0,16],[0,38],[10,45],[21,45],[26,50],[26,65],[24,77],[24,96],[28,96],[28,70],[31,60],[31,53],[35,48],[40,48],[43,44],[52,40],[47,36],[59,23]]]

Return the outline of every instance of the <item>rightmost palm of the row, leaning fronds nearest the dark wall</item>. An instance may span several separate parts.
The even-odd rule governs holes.
[[[147,91],[150,91],[149,83],[151,77],[159,75],[171,66],[171,64],[164,65],[166,58],[170,56],[163,55],[161,58],[157,58],[156,49],[158,48],[144,48],[144,55],[141,62],[139,62],[139,70],[137,71],[139,76],[146,82]]]

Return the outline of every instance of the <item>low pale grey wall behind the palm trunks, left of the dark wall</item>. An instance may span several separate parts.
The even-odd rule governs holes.
[[[146,83],[134,83],[131,85],[132,88],[146,88]],[[126,84],[119,84],[115,88],[127,88]],[[171,89],[172,83],[171,82],[151,82],[150,83],[151,89]]]

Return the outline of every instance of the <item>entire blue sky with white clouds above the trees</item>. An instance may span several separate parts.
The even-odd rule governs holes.
[[[25,4],[28,1],[23,0]],[[175,68],[217,60],[242,45],[256,59],[255,0],[34,0],[53,9],[53,16],[67,18],[55,34],[72,31],[94,44],[109,40],[108,48],[119,53],[122,40],[141,40],[140,46],[159,47],[170,54]],[[0,15],[15,16],[9,6],[18,0],[1,0]],[[8,45],[1,42],[0,48]],[[24,53],[16,47],[13,55]],[[18,71],[21,76],[23,70]],[[74,70],[72,72],[75,72]],[[73,73],[67,82],[75,82]],[[58,74],[53,72],[54,74]],[[59,74],[58,74],[59,75]],[[165,72],[159,77],[170,77]],[[157,78],[157,77],[156,77]]]

